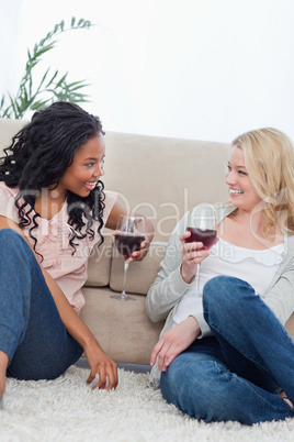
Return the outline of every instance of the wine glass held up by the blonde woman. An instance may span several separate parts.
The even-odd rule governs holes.
[[[191,236],[185,239],[186,243],[202,242],[202,251],[211,248],[216,240],[216,212],[214,207],[210,205],[196,206],[191,212],[190,222],[185,230],[191,232]],[[200,264],[197,264],[196,273],[196,292],[199,292],[199,280]]]

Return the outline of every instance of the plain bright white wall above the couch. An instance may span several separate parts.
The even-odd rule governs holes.
[[[19,1],[19,76],[55,23],[97,23],[61,35],[44,69],[89,79],[83,107],[105,130],[229,142],[272,125],[294,139],[293,0]]]

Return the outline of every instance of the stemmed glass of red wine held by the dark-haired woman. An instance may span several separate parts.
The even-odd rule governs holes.
[[[123,301],[135,301],[135,298],[126,295],[125,283],[129,265],[128,258],[132,253],[140,250],[140,244],[145,240],[145,218],[120,216],[116,230],[114,232],[114,242],[117,251],[124,257],[124,283],[121,295],[113,295],[111,298]]]

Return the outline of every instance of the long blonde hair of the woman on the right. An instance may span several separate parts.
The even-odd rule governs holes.
[[[264,128],[231,142],[244,151],[245,166],[258,196],[264,201],[263,233],[278,222],[294,234],[294,145],[281,131]]]

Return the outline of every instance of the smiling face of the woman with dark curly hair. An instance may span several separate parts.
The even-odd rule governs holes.
[[[59,197],[66,199],[68,190],[80,197],[88,197],[103,175],[105,142],[102,134],[87,141],[75,154],[72,164],[59,180]]]

